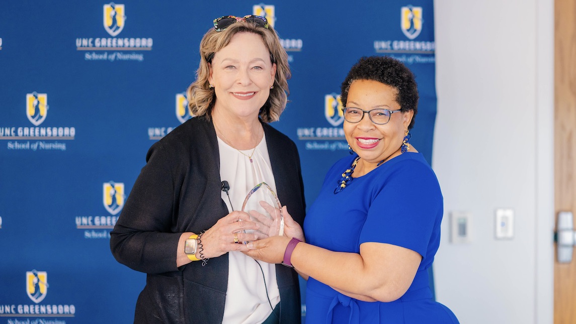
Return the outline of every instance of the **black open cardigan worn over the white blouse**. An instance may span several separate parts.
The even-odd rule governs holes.
[[[279,200],[302,226],[305,203],[298,150],[262,124]],[[228,288],[228,254],[176,267],[181,233],[207,230],[228,214],[221,199],[214,124],[199,117],[151,146],[111,232],[116,260],[147,273],[135,323],[221,323]],[[293,269],[276,265],[281,322],[300,323],[300,289]],[[241,298],[241,296],[238,296]]]

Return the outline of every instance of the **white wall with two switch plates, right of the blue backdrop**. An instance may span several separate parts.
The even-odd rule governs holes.
[[[445,199],[436,293],[466,324],[552,323],[554,1],[434,1]],[[495,239],[512,208],[514,238]],[[471,243],[449,241],[452,211]]]

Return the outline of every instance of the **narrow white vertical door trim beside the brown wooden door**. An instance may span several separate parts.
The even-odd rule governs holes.
[[[554,0],[536,1],[535,323],[554,323]],[[518,220],[520,221],[521,218]],[[527,305],[528,306],[528,305]],[[528,306],[530,307],[530,306]]]

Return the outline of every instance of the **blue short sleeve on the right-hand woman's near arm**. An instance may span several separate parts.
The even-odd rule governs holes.
[[[359,243],[389,243],[414,250],[423,258],[429,252],[434,256],[443,212],[434,171],[427,163],[404,159],[380,177],[372,188],[373,200]]]

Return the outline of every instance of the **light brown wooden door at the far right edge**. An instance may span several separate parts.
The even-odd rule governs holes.
[[[555,212],[576,212],[574,195],[576,184],[573,176],[576,173],[574,154],[576,154],[576,137],[574,126],[576,120],[576,3],[573,0],[555,1],[554,21],[554,105],[555,105]],[[574,254],[573,254],[574,256]],[[571,307],[576,302],[575,272],[576,260],[571,264],[559,264],[554,261],[554,323],[573,323],[576,312]],[[560,300],[559,297],[564,300]]]

